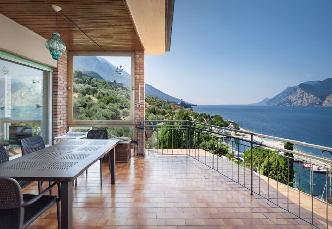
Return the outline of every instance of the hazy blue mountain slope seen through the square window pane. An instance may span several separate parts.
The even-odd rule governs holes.
[[[107,60],[96,56],[74,56],[74,71],[80,70],[82,72],[96,72],[106,81],[116,80],[118,83],[123,83],[130,87],[130,74],[126,69],[121,74],[116,74],[116,67]],[[128,69],[130,71],[130,69]]]

